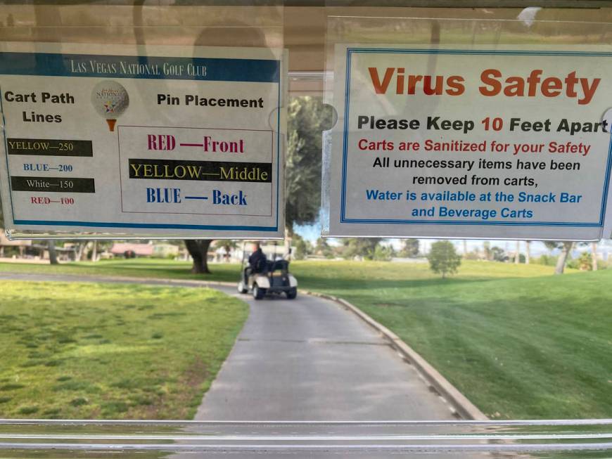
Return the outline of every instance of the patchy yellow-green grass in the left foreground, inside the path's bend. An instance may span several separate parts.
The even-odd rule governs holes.
[[[209,289],[0,281],[0,418],[190,419],[247,314]]]

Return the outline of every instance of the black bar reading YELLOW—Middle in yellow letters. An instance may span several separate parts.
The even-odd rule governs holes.
[[[130,179],[272,183],[270,162],[129,159]]]

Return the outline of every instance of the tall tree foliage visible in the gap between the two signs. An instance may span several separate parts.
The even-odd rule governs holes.
[[[310,96],[293,98],[287,111],[285,221],[292,234],[294,224],[310,224],[319,216],[322,131],[331,127],[332,112]]]

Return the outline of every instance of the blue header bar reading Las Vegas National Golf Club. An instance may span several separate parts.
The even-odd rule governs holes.
[[[278,83],[280,69],[274,59],[0,53],[0,75]]]

